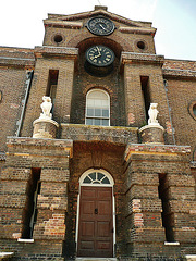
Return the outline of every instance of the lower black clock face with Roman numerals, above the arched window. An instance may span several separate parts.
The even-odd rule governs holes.
[[[108,66],[114,61],[113,51],[105,46],[94,46],[86,51],[86,60],[95,66]]]

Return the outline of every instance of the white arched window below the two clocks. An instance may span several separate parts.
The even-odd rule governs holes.
[[[110,97],[101,89],[86,96],[86,125],[110,126]]]

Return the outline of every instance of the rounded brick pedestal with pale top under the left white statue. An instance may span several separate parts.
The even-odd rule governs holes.
[[[50,119],[37,119],[33,123],[34,133],[33,138],[56,138],[57,128],[59,124]]]

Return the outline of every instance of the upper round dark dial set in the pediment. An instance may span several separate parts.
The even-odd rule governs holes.
[[[87,28],[94,35],[106,36],[113,33],[115,26],[109,18],[93,17],[87,22]]]

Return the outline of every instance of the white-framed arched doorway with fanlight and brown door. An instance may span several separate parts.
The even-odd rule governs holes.
[[[115,244],[113,178],[90,169],[79,178],[76,246],[78,257],[112,258]]]

